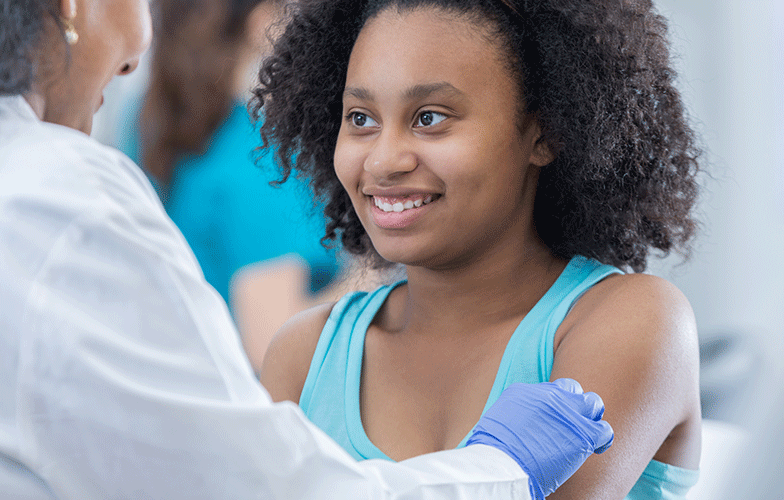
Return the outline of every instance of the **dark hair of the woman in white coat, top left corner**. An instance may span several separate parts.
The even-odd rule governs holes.
[[[63,31],[55,7],[53,0],[0,0],[0,95],[31,89],[47,20]]]

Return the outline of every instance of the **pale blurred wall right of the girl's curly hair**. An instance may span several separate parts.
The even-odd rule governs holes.
[[[704,233],[674,279],[705,330],[784,325],[781,0],[659,0],[707,167]],[[775,293],[776,296],[771,296]]]

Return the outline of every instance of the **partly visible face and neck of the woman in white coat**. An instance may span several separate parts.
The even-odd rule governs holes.
[[[93,115],[103,102],[103,90],[116,75],[133,71],[152,38],[149,0],[61,0],[67,17],[73,6],[73,24],[79,35],[70,46],[70,64],[63,66],[64,51],[49,50],[58,61],[45,61],[55,69],[51,81],[41,82],[43,119],[90,133]],[[59,33],[55,43],[63,44]],[[47,52],[46,50],[44,52]],[[47,53],[42,54],[44,58]]]

